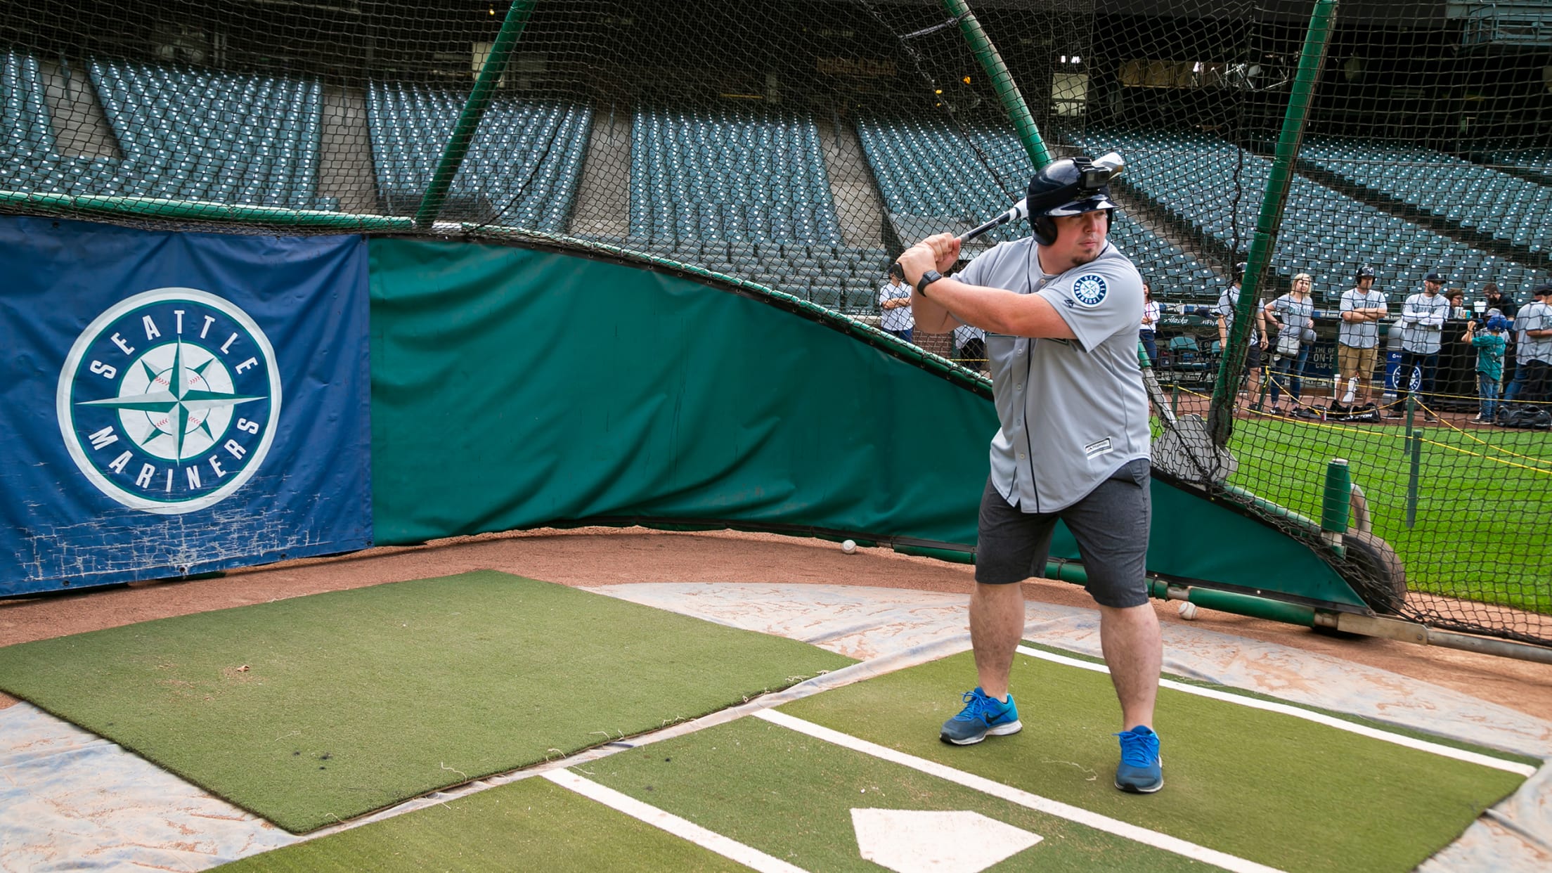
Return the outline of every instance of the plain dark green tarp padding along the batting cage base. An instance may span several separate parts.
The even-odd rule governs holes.
[[[818,315],[613,261],[410,239],[372,239],[371,298],[377,544],[594,517],[975,544],[992,402]],[[1148,570],[1361,603],[1297,541],[1153,496]],[[1062,528],[1052,556],[1077,558]]]

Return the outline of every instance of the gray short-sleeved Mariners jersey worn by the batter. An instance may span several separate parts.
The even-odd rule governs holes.
[[[1108,244],[1094,261],[1048,275],[1024,238],[982,253],[958,278],[1038,294],[1077,337],[986,334],[1001,424],[990,452],[998,494],[1026,513],[1055,513],[1148,457],[1138,367],[1142,277],[1119,249]]]

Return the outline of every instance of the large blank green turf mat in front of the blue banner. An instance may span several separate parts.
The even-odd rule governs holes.
[[[0,690],[306,833],[849,663],[476,572],[0,648]]]

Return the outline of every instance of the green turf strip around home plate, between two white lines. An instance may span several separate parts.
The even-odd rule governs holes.
[[[573,772],[804,870],[878,870],[850,811],[979,812],[1041,842],[992,870],[1200,870],[1178,854],[1035,812],[861,752],[743,718]]]

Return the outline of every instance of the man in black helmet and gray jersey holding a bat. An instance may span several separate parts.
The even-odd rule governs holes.
[[[961,239],[937,235],[900,256],[916,289],[919,329],[986,331],[999,429],[981,497],[970,637],[979,687],[944,722],[945,743],[1018,733],[1009,693],[1023,637],[1020,583],[1043,576],[1057,520],[1077,541],[1099,604],[1100,646],[1121,699],[1116,788],[1164,786],[1158,617],[1148,606],[1148,401],[1138,367],[1142,278],[1105,236],[1119,155],[1066,158],[1041,169],[1026,199],[1032,236],[1003,242],[953,278]],[[968,235],[967,235],[968,236]]]

